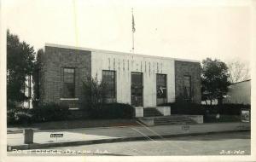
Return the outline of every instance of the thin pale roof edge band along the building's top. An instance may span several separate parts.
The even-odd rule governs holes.
[[[200,61],[189,60],[189,59],[178,59],[178,58],[164,57],[164,56],[157,56],[157,55],[134,54],[134,53],[129,53],[129,52],[119,52],[119,51],[112,51],[112,50],[105,50],[105,49],[90,49],[90,48],[70,46],[70,45],[61,45],[61,44],[55,44],[55,43],[45,43],[45,46],[56,47],[56,48],[61,48],[61,49],[87,50],[87,51],[92,51],[92,52],[102,52],[102,53],[115,54],[115,55],[135,55],[135,56],[142,56],[142,57],[149,57],[149,58],[153,57],[153,58],[159,58],[159,59],[169,59],[169,60],[173,60],[173,61],[187,61],[187,62],[200,63]]]

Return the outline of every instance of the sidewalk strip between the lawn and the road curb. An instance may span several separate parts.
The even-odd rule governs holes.
[[[75,145],[96,144],[103,142],[124,142],[166,136],[184,136],[223,132],[234,130],[250,130],[249,123],[218,123],[190,125],[159,125],[159,126],[124,126],[105,128],[86,128],[70,130],[42,130],[34,133],[34,143],[24,144],[22,133],[8,134],[8,149],[36,149],[50,147],[67,147]],[[63,137],[51,138],[51,133],[61,133]]]

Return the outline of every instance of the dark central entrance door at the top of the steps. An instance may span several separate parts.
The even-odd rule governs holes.
[[[131,105],[143,107],[143,73],[131,72]]]

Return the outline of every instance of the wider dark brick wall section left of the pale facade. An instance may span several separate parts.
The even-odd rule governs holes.
[[[75,68],[75,97],[81,98],[82,81],[91,73],[91,52],[45,46],[40,101],[60,103],[63,93],[63,68]]]

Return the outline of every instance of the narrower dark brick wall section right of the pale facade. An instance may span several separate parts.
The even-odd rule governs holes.
[[[201,65],[199,62],[175,61],[175,96],[183,97],[183,76],[191,77],[191,101],[201,103]]]

